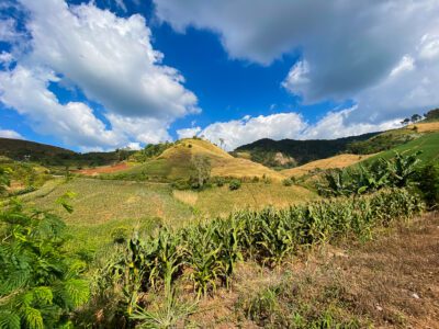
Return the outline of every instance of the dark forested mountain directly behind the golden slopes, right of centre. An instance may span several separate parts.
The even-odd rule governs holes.
[[[239,146],[233,154],[238,157],[249,157],[252,161],[268,167],[294,167],[318,159],[325,159],[345,152],[348,145],[367,140],[380,133],[369,133],[338,139],[282,139],[273,140],[263,138],[251,144]],[[280,163],[279,154],[293,159],[286,163]]]

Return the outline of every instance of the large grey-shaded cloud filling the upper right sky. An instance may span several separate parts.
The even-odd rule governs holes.
[[[437,105],[425,97],[438,86],[438,0],[154,2],[176,31],[216,33],[232,58],[269,65],[301,54],[282,86],[304,103],[353,99],[350,120],[373,124]]]

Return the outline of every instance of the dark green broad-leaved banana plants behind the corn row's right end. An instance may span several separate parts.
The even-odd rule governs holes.
[[[359,164],[353,169],[327,171],[324,183],[317,185],[318,192],[326,196],[340,196],[409,186],[414,184],[419,154],[404,156],[396,152],[394,158],[380,158],[368,167]]]

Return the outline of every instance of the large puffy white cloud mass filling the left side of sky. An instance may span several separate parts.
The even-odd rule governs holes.
[[[196,97],[183,87],[184,78],[161,64],[164,55],[153,48],[142,15],[117,18],[92,2],[20,2],[29,12],[30,50],[15,59],[13,69],[1,72],[0,98],[30,117],[40,133],[81,147],[155,143],[169,138],[167,128],[176,118],[200,111]],[[0,26],[4,37],[13,25]],[[11,57],[4,54],[2,61],[8,60]],[[103,105],[110,125],[86,103],[61,104],[49,83],[78,88]],[[35,87],[32,97],[24,86]]]

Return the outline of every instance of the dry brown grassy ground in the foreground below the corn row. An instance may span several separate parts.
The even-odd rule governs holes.
[[[275,303],[250,320],[246,305],[267,288],[277,290]],[[281,328],[292,311],[307,320],[331,311],[360,328],[439,328],[439,214],[398,224],[368,242],[323,247],[282,269],[239,264],[233,288],[203,299],[190,322]]]

